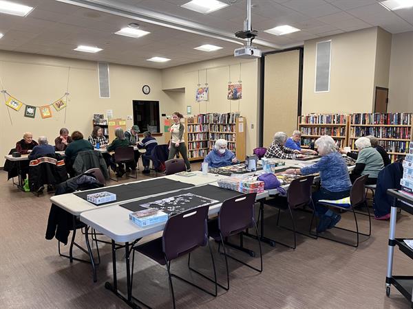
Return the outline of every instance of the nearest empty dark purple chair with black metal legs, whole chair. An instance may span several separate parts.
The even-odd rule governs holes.
[[[217,296],[217,275],[215,271],[215,262],[213,260],[213,254],[209,245],[207,219],[208,219],[208,206],[202,206],[195,209],[189,209],[171,216],[165,225],[165,229],[161,238],[151,240],[145,244],[141,244],[138,247],[134,247],[134,253],[132,257],[132,275],[131,282],[134,274],[134,260],[135,251],[146,255],[148,258],[158,262],[161,265],[167,266],[169,286],[171,288],[171,295],[173,301],[173,308],[175,308],[175,294],[173,293],[172,277],[182,280],[195,288],[198,288],[205,293],[212,296]],[[179,258],[182,255],[191,253],[198,247],[209,247],[209,253],[211,254],[211,260],[213,265],[213,273],[215,277],[215,292],[211,293],[208,290],[189,282],[187,279],[179,277],[171,273],[171,261]]]

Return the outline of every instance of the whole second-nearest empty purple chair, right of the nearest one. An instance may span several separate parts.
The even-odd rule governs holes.
[[[213,238],[218,242],[218,251],[220,251],[220,245],[224,249],[224,257],[226,264],[226,286],[218,284],[220,287],[225,290],[229,290],[229,268],[227,258],[231,258],[249,268],[252,268],[259,273],[262,272],[262,249],[260,238],[257,238],[258,245],[260,246],[260,268],[256,268],[250,264],[242,262],[237,258],[226,253],[224,239],[242,233],[248,228],[255,227],[255,232],[258,235],[257,224],[255,222],[255,196],[256,193],[245,194],[243,196],[235,196],[229,198],[228,200],[222,203],[220,213],[218,218],[210,220],[208,222],[208,234],[209,237]],[[241,234],[242,235],[242,234]],[[188,261],[189,264],[189,261]],[[215,280],[216,281],[216,280]]]

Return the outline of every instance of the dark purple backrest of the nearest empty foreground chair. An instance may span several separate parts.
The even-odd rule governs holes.
[[[162,250],[168,261],[207,244],[208,209],[197,207],[168,219],[162,235]]]

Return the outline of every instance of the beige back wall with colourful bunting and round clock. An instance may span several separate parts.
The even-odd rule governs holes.
[[[3,87],[26,104],[39,106],[60,98],[66,91],[69,68],[67,108],[56,112],[52,107],[52,118],[41,119],[39,110],[35,119],[23,117],[24,106],[17,112],[5,105],[3,96],[0,98],[1,157],[14,148],[28,130],[32,131],[35,139],[46,135],[50,144],[59,135],[61,127],[67,127],[70,132],[81,130],[87,138],[92,130],[94,113],[105,114],[107,109],[113,109],[114,117],[126,119],[127,115],[132,115],[132,100],[159,100],[160,113],[169,114],[177,108],[176,101],[161,90],[161,71],[158,69],[109,65],[111,98],[100,99],[96,62],[0,52]],[[142,93],[143,84],[151,87],[149,95]],[[128,120],[127,126],[131,124],[132,120]],[[163,142],[163,138],[160,141]],[[4,160],[0,162],[3,166]]]

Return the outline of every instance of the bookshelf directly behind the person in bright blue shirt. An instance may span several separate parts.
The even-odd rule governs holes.
[[[310,144],[322,135],[330,135],[339,147],[348,143],[348,115],[346,114],[307,114],[298,117],[298,130],[301,132],[301,147]]]

